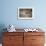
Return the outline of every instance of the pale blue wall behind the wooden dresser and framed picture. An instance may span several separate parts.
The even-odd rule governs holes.
[[[1,0],[0,25],[13,24],[16,28],[46,28],[46,0]],[[18,7],[33,7],[35,18],[32,20],[17,19]]]

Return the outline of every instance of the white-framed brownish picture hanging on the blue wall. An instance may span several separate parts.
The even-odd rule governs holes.
[[[34,8],[31,7],[19,7],[18,8],[18,19],[33,19]]]

